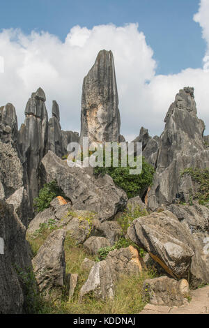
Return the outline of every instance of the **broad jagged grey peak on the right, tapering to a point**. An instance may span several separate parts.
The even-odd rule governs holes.
[[[179,195],[188,202],[195,186],[191,177],[182,176],[181,172],[186,167],[209,167],[209,149],[203,140],[205,125],[196,116],[193,88],[179,91],[164,121],[155,178],[148,195],[148,207],[152,210],[161,204],[172,204]]]

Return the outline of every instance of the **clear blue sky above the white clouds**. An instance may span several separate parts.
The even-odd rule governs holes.
[[[206,51],[201,27],[192,20],[198,0],[1,0],[1,28],[49,31],[64,40],[79,24],[91,29],[137,22],[154,50],[157,73],[199,68]]]

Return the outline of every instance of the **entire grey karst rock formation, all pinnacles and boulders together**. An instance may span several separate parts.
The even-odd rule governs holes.
[[[155,292],[160,290],[160,297],[155,299],[163,294],[170,304],[183,304],[183,296],[178,297],[182,281],[187,279],[190,288],[209,283],[209,254],[204,251],[204,240],[209,240],[209,209],[195,201],[189,204],[198,186],[189,174],[182,174],[187,167],[209,167],[209,136],[203,135],[205,124],[197,117],[194,89],[180,89],[166,114],[160,137],[150,137],[142,127],[133,141],[134,151],[136,143],[142,142],[143,155],[155,168],[153,184],[142,200],[139,195],[127,200],[125,191],[108,174],[95,177],[93,167],[78,163],[70,167],[65,158],[68,144],[82,144],[84,137],[91,144],[125,142],[120,134],[111,51],[100,51],[84,77],[80,136],[61,130],[62,112],[56,100],[52,102],[52,118],[48,119],[45,101],[41,88],[31,94],[19,131],[13,104],[0,107],[0,238],[4,240],[4,253],[0,248],[0,313],[28,311],[20,269],[24,276],[28,269],[34,272],[33,289],[60,296],[63,288],[69,288],[65,233],[70,232],[77,244],[85,244],[88,252],[95,254],[96,248],[113,246],[121,238],[123,226],[117,218],[130,206],[133,211],[140,207],[145,216],[136,218],[124,237],[143,248],[146,257],[142,259],[137,248],[129,246],[109,252],[100,262],[84,259],[83,265],[88,264],[90,272],[80,289],[81,300],[88,292],[100,299],[113,298],[120,272],[136,274],[151,262],[166,275],[147,282]],[[56,197],[47,209],[35,214],[34,198],[43,184],[52,180],[66,199]],[[56,230],[31,261],[26,234],[30,236],[40,225],[52,225],[52,221]],[[170,286],[166,292],[164,284]],[[177,295],[174,301],[168,295],[171,289]]]

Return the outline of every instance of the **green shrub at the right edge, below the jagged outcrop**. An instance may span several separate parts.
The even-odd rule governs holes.
[[[194,198],[199,200],[199,204],[204,205],[209,202],[209,170],[188,167],[181,172],[181,175],[184,174],[189,174],[192,180],[199,184],[199,190],[194,195]],[[192,204],[192,195],[189,196],[189,204]]]

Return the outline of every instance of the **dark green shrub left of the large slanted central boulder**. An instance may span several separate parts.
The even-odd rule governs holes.
[[[49,182],[49,184],[45,184],[42,189],[40,189],[38,197],[36,197],[33,201],[33,207],[36,213],[47,209],[50,202],[52,202],[52,200],[54,200],[57,196],[65,197],[65,194],[57,185],[56,180]]]

